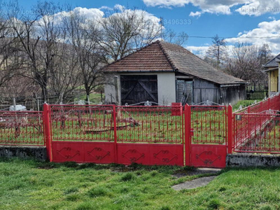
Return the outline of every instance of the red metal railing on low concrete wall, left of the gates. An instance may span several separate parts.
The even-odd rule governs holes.
[[[0,111],[0,144],[44,146],[43,112]]]

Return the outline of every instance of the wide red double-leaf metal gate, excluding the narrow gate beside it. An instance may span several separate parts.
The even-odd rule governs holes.
[[[183,107],[45,106],[54,162],[183,166]]]

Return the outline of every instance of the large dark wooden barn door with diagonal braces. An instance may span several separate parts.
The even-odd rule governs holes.
[[[122,104],[140,102],[158,103],[158,78],[156,75],[120,76]]]

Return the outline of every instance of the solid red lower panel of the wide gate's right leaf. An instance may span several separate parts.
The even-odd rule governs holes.
[[[183,144],[117,144],[118,163],[131,165],[181,165]]]

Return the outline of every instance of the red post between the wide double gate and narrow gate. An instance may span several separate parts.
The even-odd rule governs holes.
[[[191,145],[191,137],[190,137],[190,106],[186,104],[185,106],[185,156],[186,156],[186,166],[190,166],[190,145]]]

